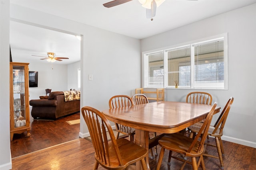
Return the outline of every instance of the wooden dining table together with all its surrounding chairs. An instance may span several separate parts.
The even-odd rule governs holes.
[[[112,96],[109,108],[102,111],[84,106],[82,115],[95,150],[93,169],[125,169],[131,165],[136,170],[172,169],[174,159],[184,162],[180,169],[206,169],[204,157],[211,150],[216,156],[208,156],[217,158],[218,167],[224,169],[220,137],[233,100],[228,99],[222,109],[218,103],[212,104],[212,96],[205,92],[189,93],[186,102],[148,102],[144,94],[135,94]],[[215,125],[214,115],[219,116]],[[110,122],[116,129],[112,130]],[[193,129],[194,125],[197,128]],[[126,136],[119,137],[121,133]],[[209,136],[215,137],[216,148],[206,150],[205,142],[212,141]],[[168,160],[163,160],[166,154]],[[150,167],[152,160],[154,167]]]

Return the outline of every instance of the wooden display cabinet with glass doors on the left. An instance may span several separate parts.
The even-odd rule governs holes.
[[[10,138],[30,131],[28,64],[10,62]]]

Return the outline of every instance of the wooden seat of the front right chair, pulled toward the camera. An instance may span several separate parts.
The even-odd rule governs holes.
[[[164,147],[165,149],[172,150],[174,152],[179,152],[190,157],[198,157],[204,151],[204,146],[202,146],[200,151],[198,151],[200,142],[197,141],[196,145],[194,145],[191,152],[188,153],[188,149],[193,141],[194,139],[186,137],[181,133],[172,133],[162,137],[162,139],[160,139],[158,143],[161,147]]]

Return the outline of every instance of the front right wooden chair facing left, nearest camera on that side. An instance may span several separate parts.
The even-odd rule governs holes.
[[[193,170],[197,170],[200,165],[202,169],[205,170],[203,158],[204,141],[206,139],[207,131],[210,127],[212,115],[214,113],[216,106],[217,103],[215,102],[214,105],[212,106],[212,109],[208,113],[204,123],[202,124],[200,130],[198,131],[198,134],[202,135],[196,135],[196,137],[192,139],[190,137],[182,135],[181,133],[172,133],[165,135],[164,137],[162,137],[162,139],[158,141],[162,149],[159,155],[159,160],[156,168],[157,170],[160,170],[165,149],[170,150],[168,164],[170,164],[171,158],[175,158],[177,160],[181,160],[184,162],[180,169],[183,169],[185,164],[189,163],[192,164]],[[199,137],[201,137],[200,140]],[[176,156],[172,156],[172,152],[178,152],[184,154],[185,156],[189,156],[191,157],[192,162],[189,162],[188,160],[182,158],[178,158]],[[199,157],[198,162],[196,162],[196,157]]]

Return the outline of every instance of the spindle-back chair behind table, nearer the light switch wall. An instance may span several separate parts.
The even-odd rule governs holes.
[[[125,106],[133,106],[133,102],[129,96],[117,95],[110,98],[108,105],[110,109],[114,109],[114,108],[125,107]],[[134,134],[135,134],[134,128],[120,125],[118,123],[115,123],[115,124],[116,124],[116,131],[117,131],[116,139],[119,138],[119,133],[122,133],[124,135],[129,135],[129,140],[133,141]]]

